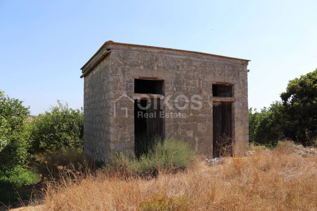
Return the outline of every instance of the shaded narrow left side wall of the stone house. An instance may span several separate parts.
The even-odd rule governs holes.
[[[110,153],[110,61],[108,55],[84,77],[84,153],[96,160]]]

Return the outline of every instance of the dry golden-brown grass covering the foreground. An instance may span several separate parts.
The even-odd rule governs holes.
[[[157,178],[78,176],[72,182],[48,183],[41,205],[45,211],[136,211],[161,194],[186,196],[193,211],[317,210],[317,155],[301,157],[291,144],[261,150],[249,158],[226,157],[224,164],[198,162],[181,173]],[[28,210],[28,208],[26,208]]]

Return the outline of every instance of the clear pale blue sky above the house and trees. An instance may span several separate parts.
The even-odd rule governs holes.
[[[0,0],[0,89],[32,115],[79,108],[79,69],[107,40],[250,59],[260,109],[317,68],[317,1]]]

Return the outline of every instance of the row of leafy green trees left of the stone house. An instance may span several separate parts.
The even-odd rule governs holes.
[[[0,176],[10,176],[36,153],[83,147],[82,108],[58,100],[32,121],[29,116],[29,107],[0,90]]]

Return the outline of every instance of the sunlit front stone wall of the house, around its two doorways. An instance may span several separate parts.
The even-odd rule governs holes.
[[[213,118],[212,82],[235,83],[234,96],[237,97],[234,111],[234,149],[235,154],[248,150],[248,86],[246,60],[223,58],[193,52],[149,49],[109,45],[111,49],[111,68],[109,79],[113,103],[120,96],[130,98],[134,93],[133,77],[158,77],[165,80],[165,96],[171,95],[169,102],[178,95],[189,99],[201,96],[202,109],[189,107],[181,111],[185,118],[166,118],[166,137],[178,137],[188,141],[197,153],[212,157]],[[94,70],[95,71],[95,70]],[[123,96],[112,106],[110,115],[110,150],[134,151],[134,103]],[[193,104],[194,107],[197,104]],[[178,113],[173,107],[165,106],[165,113]],[[127,117],[126,117],[127,116]]]

